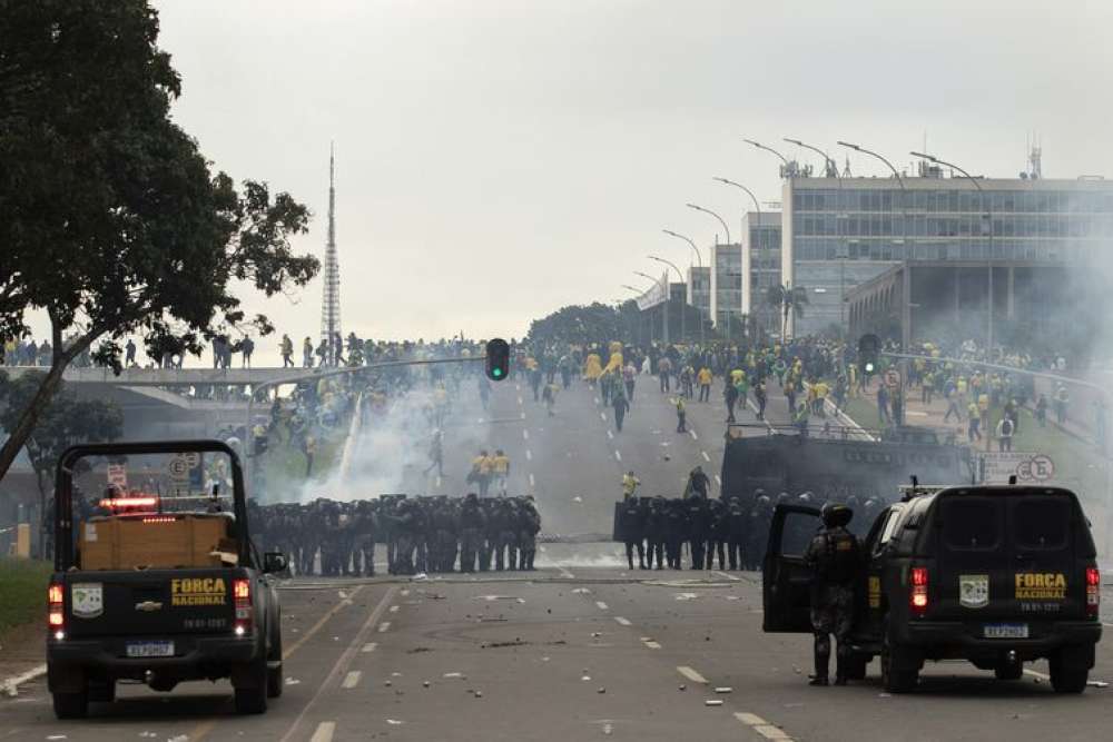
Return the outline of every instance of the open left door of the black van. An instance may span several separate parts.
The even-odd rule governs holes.
[[[762,631],[811,633],[811,571],[804,553],[823,524],[819,509],[778,505],[761,564]]]

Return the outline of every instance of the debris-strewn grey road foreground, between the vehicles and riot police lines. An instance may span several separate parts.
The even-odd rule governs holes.
[[[124,686],[58,722],[37,681],[0,701],[0,740],[1094,740],[1111,721],[1110,691],[1061,698],[1038,674],[959,663],[929,665],[913,696],[884,694],[876,662],[861,683],[808,687],[810,637],[760,633],[749,573],[521,577],[295,581],[287,685],[266,715],[236,716],[227,683],[190,683]]]

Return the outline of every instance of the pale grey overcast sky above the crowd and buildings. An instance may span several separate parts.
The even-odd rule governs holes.
[[[776,158],[743,136],[786,154],[781,137],[846,138],[900,164],[926,136],[1015,177],[1035,132],[1045,177],[1113,176],[1105,0],[156,4],[177,120],[216,167],[308,204],[298,246],[317,255],[335,140],[345,334],[520,336],[624,298],[647,254],[687,266],[662,227],[713,240],[686,201],[737,235],[746,201],[712,176],[780,200]],[[316,337],[321,294],[249,309]]]

